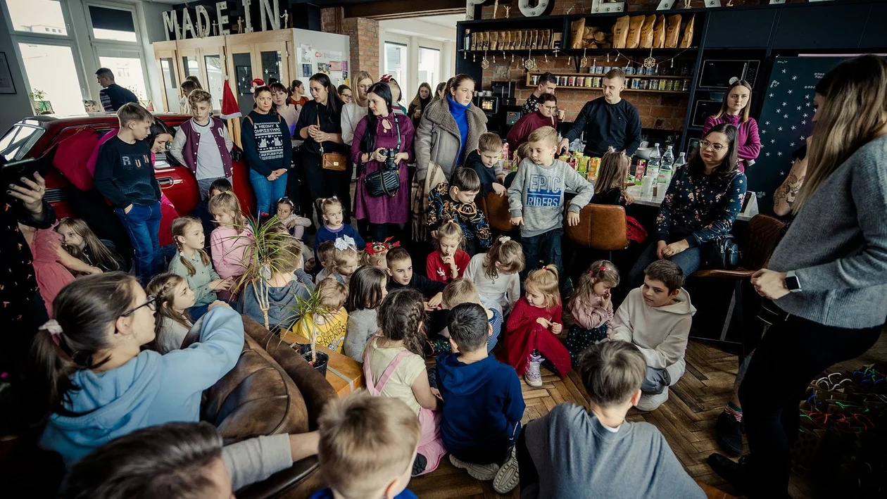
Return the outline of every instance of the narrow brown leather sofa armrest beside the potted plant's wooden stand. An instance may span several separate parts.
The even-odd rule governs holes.
[[[252,318],[243,316],[244,331],[255,342],[261,345],[268,355],[271,355],[283,370],[287,372],[290,378],[293,378],[295,385],[298,386],[308,408],[308,428],[309,431],[318,429],[318,417],[326,403],[336,400],[335,390],[333,386],[326,381],[318,370],[302,358],[292,347],[287,345],[279,336],[264,328],[263,325],[256,323]]]

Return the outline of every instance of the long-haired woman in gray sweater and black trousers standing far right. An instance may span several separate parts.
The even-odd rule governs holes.
[[[750,456],[709,457],[755,497],[788,496],[805,388],[872,347],[887,316],[887,62],[852,58],[829,76],[796,218],[769,268],[751,279],[785,316],[761,339],[740,387]]]

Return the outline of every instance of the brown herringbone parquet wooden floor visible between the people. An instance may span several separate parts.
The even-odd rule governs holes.
[[[885,360],[887,332],[882,333],[875,347],[869,349],[865,355],[838,364],[833,369],[855,369],[861,364]],[[718,442],[714,440],[714,426],[718,414],[730,398],[736,369],[736,355],[726,353],[710,343],[691,340],[687,347],[687,373],[671,388],[668,402],[653,412],[642,413],[632,409],[628,413],[630,421],[647,421],[659,428],[691,477],[731,494],[736,494],[736,491],[711,472],[706,459],[718,450]],[[522,382],[523,398],[527,403],[527,409],[523,413],[524,425],[546,415],[561,402],[586,404],[585,388],[575,371],[561,380],[543,370],[542,379],[544,384],[541,388],[531,388]],[[435,472],[412,479],[410,488],[421,499],[519,497],[516,488],[509,495],[497,494],[491,481],[482,482],[471,478],[464,470],[453,467],[447,457],[443,458]],[[796,498],[814,496],[806,481],[795,473],[792,473],[789,493]]]

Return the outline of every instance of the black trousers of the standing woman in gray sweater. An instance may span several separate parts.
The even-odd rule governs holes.
[[[881,326],[844,329],[797,316],[767,331],[739,388],[751,453],[752,497],[788,495],[789,449],[797,440],[798,402],[807,386],[835,363],[864,354],[880,334]]]

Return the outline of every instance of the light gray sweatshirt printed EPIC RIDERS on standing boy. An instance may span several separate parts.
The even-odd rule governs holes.
[[[547,167],[530,158],[521,161],[508,188],[508,207],[512,217],[523,217],[522,237],[563,227],[563,193],[567,189],[577,191],[569,205],[573,213],[579,213],[594,195],[594,186],[561,160]]]

